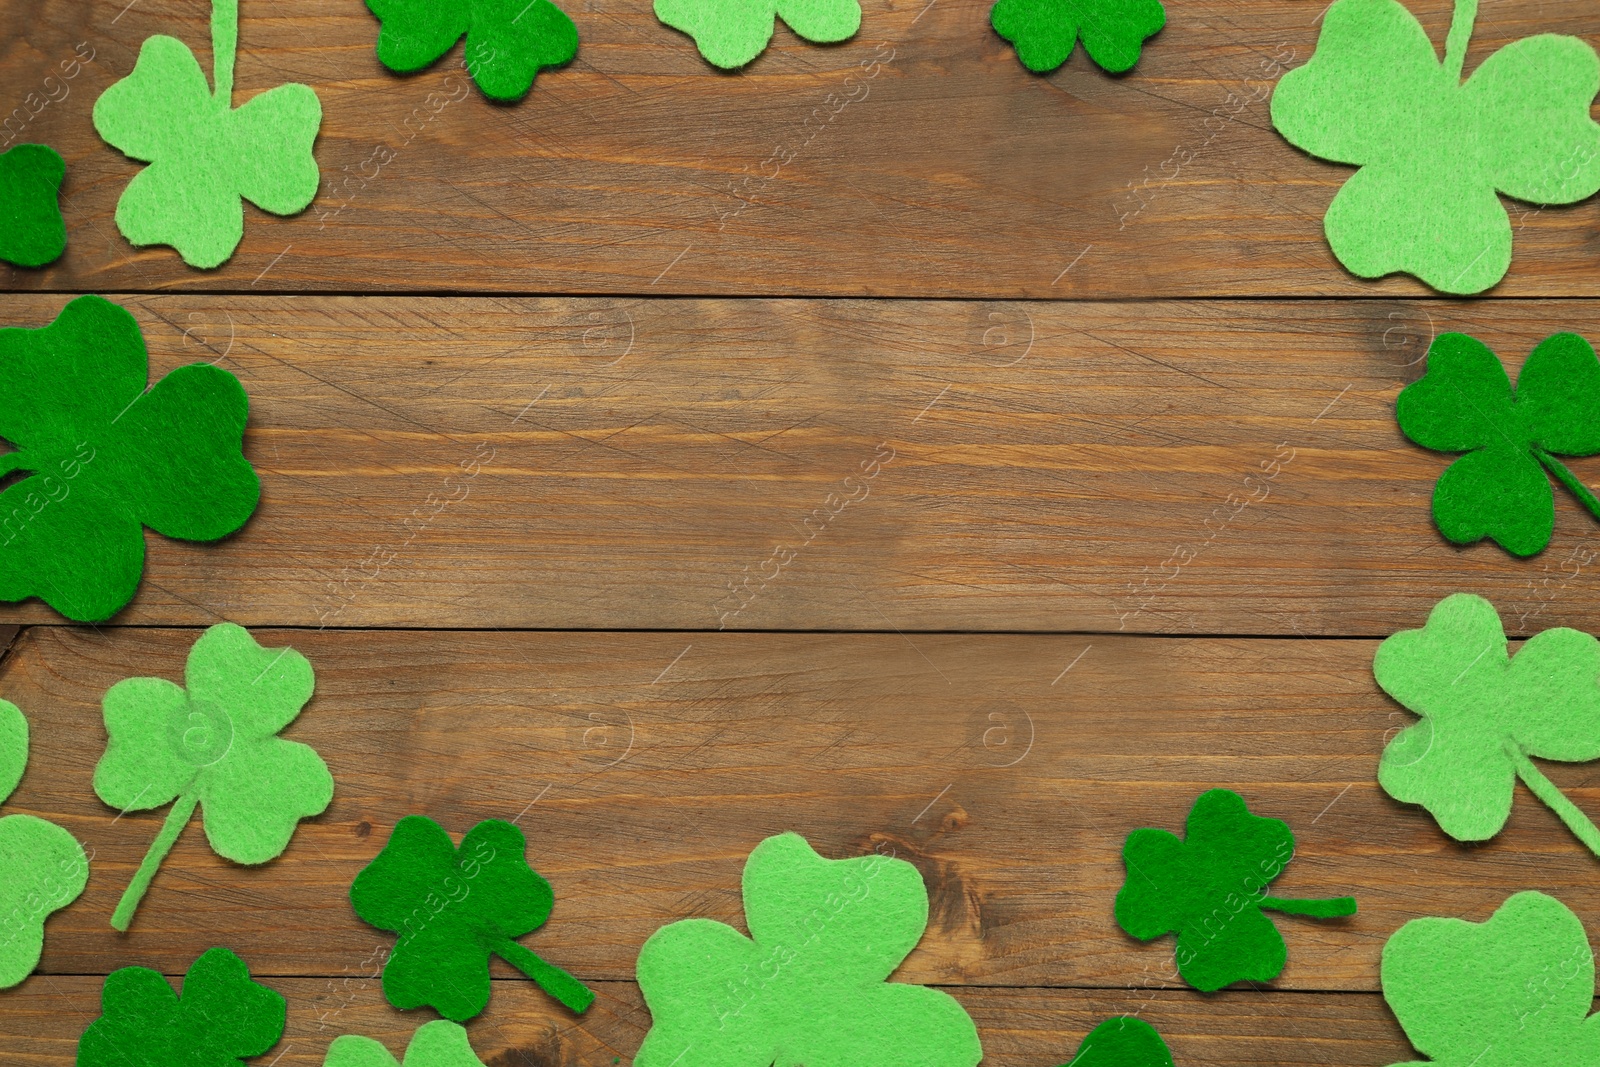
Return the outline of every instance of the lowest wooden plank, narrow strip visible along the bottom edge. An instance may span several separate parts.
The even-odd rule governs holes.
[[[290,1001],[283,1041],[262,1062],[322,1067],[339,1033],[363,1033],[398,1056],[429,1013],[400,1014],[376,982],[267,979]],[[0,1057],[14,1067],[67,1067],[77,1040],[99,1014],[99,979],[40,977],[6,993]],[[467,1024],[488,1067],[531,1064],[610,1065],[630,1061],[650,1016],[632,982],[597,985],[594,1008],[574,1021],[528,982],[498,982],[485,1014]],[[1182,1067],[1302,1067],[1387,1064],[1410,1054],[1405,1035],[1366,993],[1194,993],[1064,989],[952,989],[978,1024],[986,1067],[1040,1067],[1072,1059],[1102,1019],[1138,1011],[1155,1025]],[[331,1008],[330,1008],[331,1005]],[[274,1059],[277,1056],[277,1059]]]

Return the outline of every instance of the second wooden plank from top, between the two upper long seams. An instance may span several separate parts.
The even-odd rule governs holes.
[[[1522,632],[1600,611],[1576,501],[1539,558],[1456,549],[1429,515],[1450,459],[1394,422],[1435,333],[1515,368],[1600,338],[1589,302],[126,302],[155,373],[245,382],[266,491],[221,544],[150,534],[120,622],[1378,637],[1454,590]]]

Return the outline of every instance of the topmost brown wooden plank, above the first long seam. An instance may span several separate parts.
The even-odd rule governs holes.
[[[1274,133],[1277,72],[1312,53],[1322,5],[1190,0],[1112,78],[1082,50],[1029,74],[987,5],[869,0],[835,48],[779,27],[738,77],[650,0],[571,14],[579,58],[522,104],[483,101],[461,50],[400,78],[358,3],[243,5],[235,99],[290,80],[323,106],[323,187],[294,219],[248,208],[218,272],[133,250],[117,198],[138,166],[94,99],[171,34],[208,61],[205,3],[3,0],[0,107],[69,162],[70,248],[0,286],[128,291],[429,290],[835,296],[1411,296],[1331,258],[1322,216],[1352,173]],[[1451,0],[1410,0],[1442,48]],[[1470,66],[1536,32],[1600,37],[1594,5],[1496,0]],[[82,45],[82,50],[75,50]],[[93,56],[90,62],[75,54]],[[64,72],[75,77],[64,80]],[[46,80],[50,78],[50,80]],[[58,98],[54,102],[50,98]],[[26,120],[26,122],[24,122]],[[1512,205],[1499,293],[1595,296],[1594,203]]]

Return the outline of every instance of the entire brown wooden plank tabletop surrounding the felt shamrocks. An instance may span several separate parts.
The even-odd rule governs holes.
[[[1528,793],[1470,848],[1382,793],[1411,718],[1371,678],[1378,640],[1451,592],[1518,635],[1600,629],[1594,520],[1558,498],[1533,560],[1450,545],[1448,459],[1394,422],[1438,333],[1512,366],[1600,338],[1600,206],[1512,205],[1486,299],[1360,282],[1322,238],[1349,170],[1267,118],[1320,3],[1171,0],[1126,77],[1082,50],[1026,72],[981,3],[862,6],[856,40],[779,27],[726,75],[646,0],[568,3],[578,59],[494,106],[459,48],[381,69],[358,0],[243,0],[237,99],[317,90],[323,187],[298,218],[246,208],[234,259],[198,272],[117,234],[136,165],[90,110],[150,34],[210,69],[210,5],[0,0],[5,136],[69,165],[67,253],[0,266],[0,323],[126,306],[152,376],[240,378],[264,483],[224,542],[147,534],[110,624],[0,609],[0,696],[35,737],[5,811],[93,853],[38,973],[0,993],[0,1062],[66,1067],[109,971],[176,977],[216,944],[288,998],[261,1062],[322,1064],[346,1032],[398,1051],[432,1014],[384,1003],[390,939],[346,889],[411,813],[518,819],[557,891],[528,944],[598,992],[574,1019],[496,969],[469,1025],[491,1067],[627,1061],[640,944],[741,925],[742,859],[781,830],[917,864],[933,917],[898,976],[949,989],[990,1067],[1066,1062],[1118,1013],[1179,1067],[1382,1067],[1414,1059],[1378,995],[1400,923],[1518,889],[1600,921],[1595,861]],[[1410,6],[1442,42],[1448,0]],[[1488,0],[1469,67],[1546,30],[1600,42],[1600,8]],[[290,736],[334,801],[258,869],[190,829],[115,934],[163,813],[94,797],[101,696],[181,678],[221,619],[314,662]],[[1550,776],[1600,814],[1600,771]],[[1179,829],[1214,785],[1296,830],[1286,896],[1360,913],[1278,918],[1277,982],[1200,995],[1110,907],[1123,837]]]

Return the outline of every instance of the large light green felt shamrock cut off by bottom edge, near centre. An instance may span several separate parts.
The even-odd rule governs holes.
[[[744,864],[739,931],[662,926],[638,953],[651,1029],[634,1067],[973,1067],[978,1029],[936,989],[886,981],[922,939],[928,889],[882,854],[822,859],[798,833]],[[693,1053],[690,1053],[693,1049]]]

